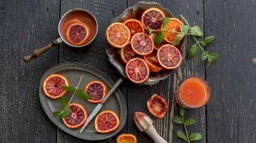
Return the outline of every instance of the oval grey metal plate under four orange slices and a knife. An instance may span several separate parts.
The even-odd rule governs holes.
[[[126,109],[126,102],[123,98],[123,95],[119,89],[117,89],[114,93],[114,95],[111,95],[110,98],[105,102],[104,106],[102,107],[102,110],[114,110],[117,115],[120,118],[120,126],[116,131],[110,134],[99,134],[94,129],[94,119],[89,123],[89,125],[85,128],[83,133],[79,133],[79,129],[70,129],[67,128],[62,120],[59,120],[57,117],[54,117],[52,112],[56,110],[61,109],[61,105],[58,99],[51,99],[47,98],[42,90],[42,84],[44,79],[54,73],[59,73],[67,77],[68,82],[70,83],[70,86],[75,87],[78,83],[78,80],[80,79],[81,75],[83,75],[83,79],[80,83],[80,88],[84,88],[86,83],[88,83],[91,80],[101,80],[102,82],[107,85],[107,88],[110,90],[112,86],[114,85],[114,82],[112,79],[110,79],[107,75],[102,73],[101,71],[88,66],[86,64],[80,64],[80,63],[64,63],[64,64],[58,64],[56,66],[53,66],[52,68],[48,69],[41,78],[40,84],[39,84],[39,98],[41,101],[41,104],[43,106],[44,111],[46,112],[47,116],[52,120],[52,122],[58,126],[60,129],[65,131],[68,134],[71,134],[72,136],[78,137],[80,139],[85,139],[89,141],[98,141],[102,139],[108,139],[109,137],[115,136],[123,126],[125,126],[126,118],[127,118],[127,109]],[[71,93],[67,93],[65,95],[65,98],[69,101],[71,98]],[[88,115],[93,111],[94,107],[97,106],[97,104],[89,103],[87,101],[83,101],[81,99],[78,99],[76,97],[73,98],[72,102],[77,102],[83,105]]]

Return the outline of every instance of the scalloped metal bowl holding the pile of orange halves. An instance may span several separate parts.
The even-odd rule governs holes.
[[[122,14],[120,14],[117,18],[115,18],[111,23],[115,23],[115,22],[124,22],[125,20],[128,20],[130,18],[136,18],[138,20],[140,20],[142,13],[146,10],[149,9],[150,7],[157,7],[161,10],[163,10],[163,12],[165,13],[165,15],[167,17],[174,17],[173,14],[171,14],[170,10],[165,9],[164,7],[162,7],[160,4],[158,4],[157,2],[138,2],[137,4],[134,4],[133,7],[128,7],[125,11],[122,12]],[[186,55],[186,36],[183,38],[183,40],[181,41],[180,45],[177,45],[176,47],[180,50],[182,56],[183,56],[183,61]],[[109,56],[109,61],[110,63],[112,63],[115,68],[118,69],[118,71],[123,75],[123,77],[126,78],[125,75],[125,64],[123,63],[123,61],[120,58],[120,52],[119,52],[119,48],[113,48],[111,47],[109,44],[107,44],[106,47],[106,52],[107,55]],[[142,85],[154,85],[156,83],[158,83],[160,80],[166,79],[168,76],[170,76],[170,74],[173,72],[174,70],[167,70],[167,69],[163,69],[160,72],[157,73],[151,73],[149,75],[149,79],[146,80],[146,82],[143,82]]]

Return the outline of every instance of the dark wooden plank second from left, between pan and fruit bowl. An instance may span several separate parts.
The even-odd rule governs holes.
[[[73,8],[83,8],[89,10],[97,18],[99,24],[99,31],[93,43],[82,48],[73,48],[66,44],[60,45],[60,63],[78,62],[94,66],[105,74],[109,75],[114,81],[122,77],[114,66],[109,62],[108,56],[105,53],[106,40],[105,29],[110,22],[122,13],[127,7],[127,2],[123,1],[61,1],[61,15],[65,14]],[[123,82],[120,86],[123,96],[126,98],[126,83]],[[122,133],[126,133],[126,126]],[[112,137],[105,141],[98,142],[115,142],[116,137]],[[58,129],[57,142],[92,142],[83,141],[76,137],[70,136]]]

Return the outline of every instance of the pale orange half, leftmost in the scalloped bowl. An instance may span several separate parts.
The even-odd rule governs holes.
[[[105,38],[112,47],[125,47],[131,38],[130,29],[123,23],[112,23],[105,31]]]

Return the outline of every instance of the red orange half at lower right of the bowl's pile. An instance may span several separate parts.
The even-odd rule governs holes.
[[[157,60],[165,69],[175,69],[180,66],[182,56],[178,48],[173,45],[166,44],[157,51]]]

